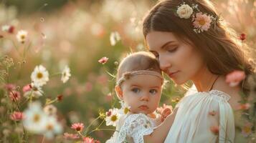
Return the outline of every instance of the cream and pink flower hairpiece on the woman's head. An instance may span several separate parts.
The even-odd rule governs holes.
[[[198,4],[192,4],[189,6],[185,2],[179,6],[177,6],[176,16],[179,16],[181,19],[189,19],[192,18],[194,32],[199,34],[203,31],[207,31],[211,24],[214,26],[219,21],[218,16],[212,16],[210,14],[203,14],[202,11],[199,10]]]

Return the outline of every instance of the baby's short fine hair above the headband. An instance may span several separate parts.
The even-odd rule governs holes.
[[[146,51],[138,51],[129,54],[120,62],[116,80],[118,81],[127,72],[140,70],[151,70],[161,74],[158,61],[153,54]]]

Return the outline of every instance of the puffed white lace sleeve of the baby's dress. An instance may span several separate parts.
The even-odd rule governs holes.
[[[143,143],[143,136],[153,132],[153,122],[145,114],[131,114],[125,119],[118,134],[118,142]]]

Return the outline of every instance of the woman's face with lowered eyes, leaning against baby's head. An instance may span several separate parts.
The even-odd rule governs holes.
[[[176,84],[184,84],[188,80],[200,77],[204,61],[199,51],[174,36],[171,32],[151,31],[146,36],[149,51],[159,61],[161,69]]]

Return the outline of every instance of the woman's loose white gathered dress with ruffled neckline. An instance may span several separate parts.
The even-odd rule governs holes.
[[[234,142],[229,95],[218,90],[188,94],[176,106],[179,109],[164,143]]]

